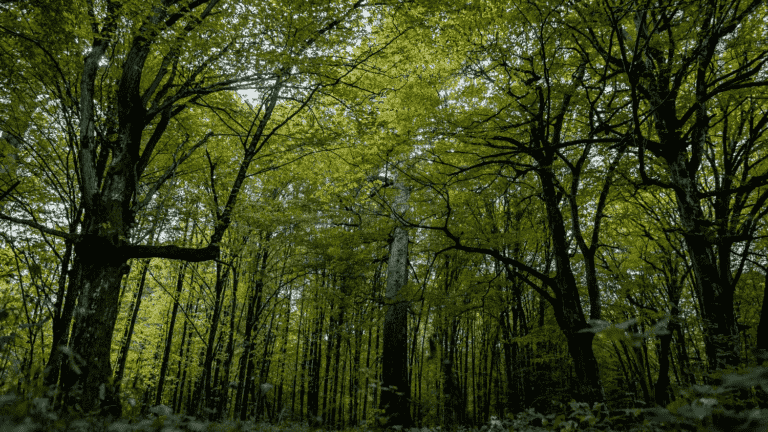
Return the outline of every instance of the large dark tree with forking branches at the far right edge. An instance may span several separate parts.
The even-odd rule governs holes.
[[[624,77],[644,184],[674,193],[702,301],[711,371],[737,366],[734,291],[768,214],[760,148],[768,47],[760,1],[589,3],[565,20]],[[735,261],[734,261],[735,259]]]

